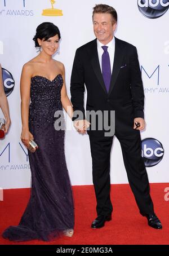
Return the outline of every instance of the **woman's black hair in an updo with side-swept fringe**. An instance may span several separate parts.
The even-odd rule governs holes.
[[[51,22],[43,22],[40,25],[38,25],[36,34],[33,38],[33,41],[35,42],[35,47],[40,47],[38,43],[39,39],[44,39],[44,41],[47,41],[48,38],[54,37],[58,35],[60,39],[60,31],[59,28],[57,28],[54,23]]]

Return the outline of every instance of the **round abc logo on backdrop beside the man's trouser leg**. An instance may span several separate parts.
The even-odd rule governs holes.
[[[163,158],[164,149],[157,139],[147,138],[142,140],[142,157],[146,167],[157,165]]]

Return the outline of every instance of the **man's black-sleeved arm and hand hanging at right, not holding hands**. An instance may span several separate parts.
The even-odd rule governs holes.
[[[137,49],[134,48],[130,59],[130,72],[131,72],[131,95],[134,106],[134,129],[143,130],[144,122],[144,90],[143,82],[141,79],[140,65],[137,55]],[[135,123],[140,123],[136,128]]]

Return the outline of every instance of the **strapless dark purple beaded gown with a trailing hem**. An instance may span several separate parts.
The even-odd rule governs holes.
[[[10,226],[3,237],[12,241],[48,241],[74,228],[72,188],[65,162],[64,130],[55,130],[54,114],[62,111],[63,77],[50,81],[32,77],[29,130],[38,144],[29,152],[32,189],[28,205],[18,226]]]

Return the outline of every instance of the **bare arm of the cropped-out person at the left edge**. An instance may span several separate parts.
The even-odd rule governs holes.
[[[5,91],[3,90],[3,80],[2,80],[2,68],[0,64],[0,107],[2,109],[3,115],[5,117],[5,133],[7,133],[11,119],[10,119],[10,111],[8,107],[8,101],[5,95]]]

